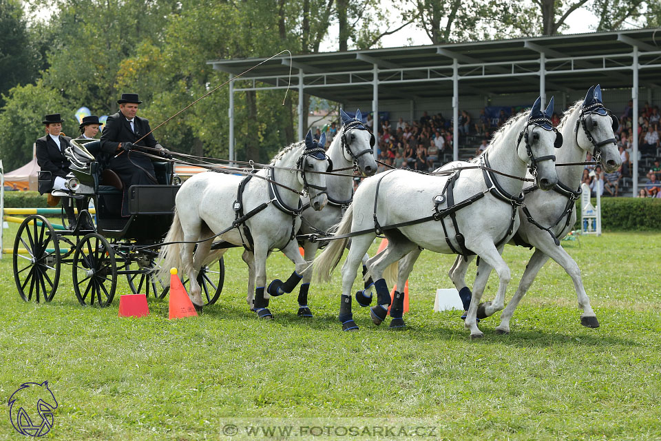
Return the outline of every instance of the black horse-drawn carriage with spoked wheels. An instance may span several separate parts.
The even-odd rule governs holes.
[[[74,293],[81,305],[110,305],[121,276],[127,278],[134,294],[164,298],[169,287],[153,270],[174,216],[175,196],[181,184],[174,174],[174,163],[153,161],[159,185],[130,187],[130,216],[122,217],[123,183],[105,167],[109,158],[101,153],[100,141],[72,140],[66,154],[71,161],[67,185],[72,197],[94,201],[96,225],[87,209],[78,214],[78,225],[72,229],[55,229],[37,214],[25,218],[13,250],[14,280],[21,298],[26,302],[50,302],[63,264],[72,267]],[[40,179],[46,178],[50,176],[42,172]],[[85,224],[90,227],[85,229]],[[202,267],[197,281],[206,296],[205,305],[216,302],[224,283],[222,258]]]

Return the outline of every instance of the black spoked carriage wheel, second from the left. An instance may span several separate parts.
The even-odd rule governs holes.
[[[117,287],[117,266],[112,247],[103,236],[87,234],[78,243],[72,278],[81,305],[110,305]]]

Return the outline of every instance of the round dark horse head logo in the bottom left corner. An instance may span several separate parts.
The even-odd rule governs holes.
[[[53,427],[57,400],[43,383],[23,383],[9,398],[9,416],[21,435],[43,436]]]

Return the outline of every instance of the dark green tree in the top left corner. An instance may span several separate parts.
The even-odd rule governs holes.
[[[20,84],[32,83],[39,70],[39,53],[30,41],[21,3],[0,0],[0,96]],[[4,104],[0,98],[0,107]]]

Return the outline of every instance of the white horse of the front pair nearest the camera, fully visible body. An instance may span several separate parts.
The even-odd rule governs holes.
[[[350,289],[361,257],[377,232],[386,235],[388,247],[368,261],[377,291],[378,305],[370,309],[375,324],[379,325],[386,318],[390,305],[390,294],[382,276],[384,269],[416,247],[444,254],[472,252],[479,255],[496,268],[500,279],[496,305],[504,302],[510,269],[500,252],[504,240],[518,228],[516,201],[519,198],[514,195],[521,192],[521,178],[530,165],[542,189],[550,189],[557,182],[552,153],[558,141],[560,144],[562,141],[540,107],[541,100],[537,99],[531,111],[510,119],[494,134],[484,155],[487,167],[514,178],[496,178],[494,172],[487,170],[461,170],[449,177],[392,170],[363,181],[337,228],[336,236],[340,239],[331,240],[315,259],[317,276],[330,280],[342,257],[347,235],[351,235],[351,248],[342,267],[339,311],[345,331],[357,329],[351,312]],[[552,108],[552,104],[549,107]],[[460,164],[466,165],[454,163],[451,166]],[[477,300],[479,294],[475,293]],[[477,305],[474,303],[465,321],[472,338],[483,335],[476,325]],[[393,312],[398,314],[399,311],[390,311],[395,320],[398,317]]]

